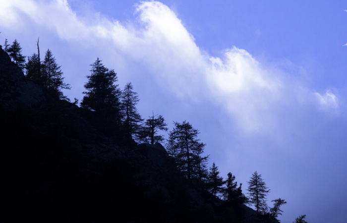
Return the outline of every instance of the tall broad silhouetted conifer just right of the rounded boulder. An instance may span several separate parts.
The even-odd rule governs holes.
[[[189,122],[174,122],[169,141],[178,169],[188,179],[201,180],[206,173],[207,157],[203,157],[205,144],[197,138],[199,131]]]

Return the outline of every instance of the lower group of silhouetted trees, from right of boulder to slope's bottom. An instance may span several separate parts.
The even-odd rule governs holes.
[[[237,186],[235,176],[231,172],[224,180],[215,163],[207,169],[208,156],[203,156],[206,144],[200,142],[198,134],[199,131],[187,121],[174,122],[174,128],[170,131],[167,150],[169,155],[175,158],[176,165],[182,174],[189,180],[202,183],[213,196],[232,204],[254,205],[256,211],[269,221],[278,220],[283,212],[281,207],[287,204],[287,201],[282,198],[272,200],[273,207],[269,208],[267,195],[270,189],[257,171],[247,181],[248,196],[245,196],[242,193],[242,184]],[[300,216],[295,221],[302,222],[304,218],[305,216]]]

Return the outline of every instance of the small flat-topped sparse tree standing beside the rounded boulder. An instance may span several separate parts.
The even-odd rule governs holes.
[[[164,135],[159,135],[158,131],[168,131],[167,125],[162,115],[157,116],[152,114],[152,116],[146,119],[140,129],[138,138],[143,142],[150,142],[152,145],[155,142],[163,142]]]

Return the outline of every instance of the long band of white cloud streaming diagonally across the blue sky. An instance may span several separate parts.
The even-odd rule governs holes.
[[[54,30],[62,40],[130,58],[178,97],[222,105],[248,132],[276,125],[274,106],[308,98],[295,95],[295,86],[286,87],[292,83],[284,80],[283,72],[261,64],[245,50],[233,47],[223,58],[202,52],[163,3],[144,1],[136,12],[137,21],[121,24],[99,13],[79,17],[66,0],[2,0],[0,27],[15,27],[29,18],[26,22]],[[338,107],[330,91],[314,95],[321,108]]]

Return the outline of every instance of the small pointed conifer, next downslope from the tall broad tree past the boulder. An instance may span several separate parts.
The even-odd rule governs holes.
[[[213,163],[207,176],[207,189],[214,196],[221,194],[224,190],[223,185],[225,181],[219,174],[220,172],[218,170],[218,167],[215,165],[215,163]]]

